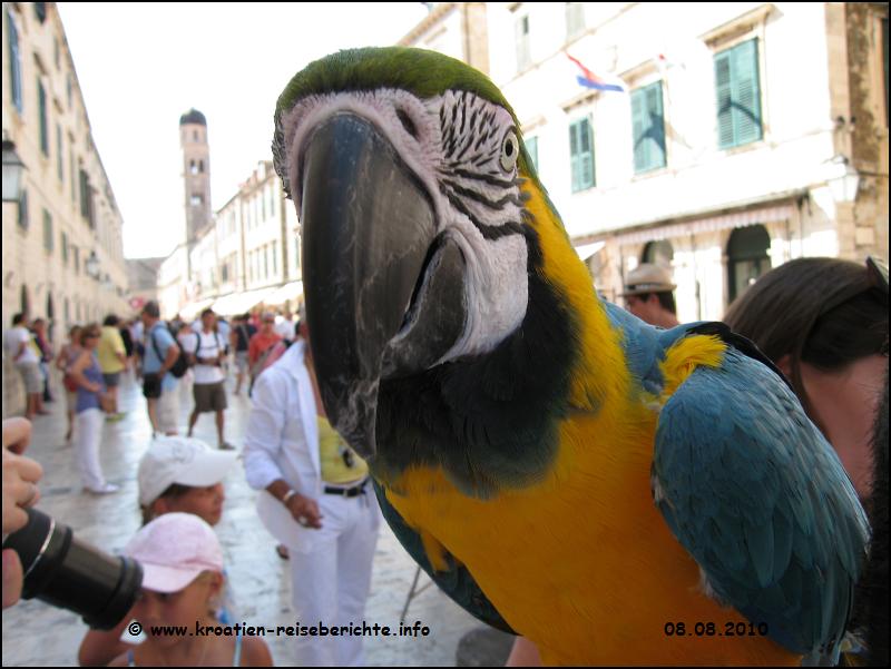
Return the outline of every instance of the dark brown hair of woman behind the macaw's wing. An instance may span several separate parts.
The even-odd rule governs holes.
[[[799,258],[758,278],[724,322],[773,362],[789,355],[792,385],[813,420],[801,363],[834,372],[887,353],[888,288],[877,286],[864,265]]]

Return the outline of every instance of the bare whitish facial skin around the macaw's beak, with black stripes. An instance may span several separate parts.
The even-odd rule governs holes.
[[[438,234],[451,237],[463,254],[467,323],[437,364],[497,347],[520,326],[528,304],[516,156],[508,149],[513,164],[505,159],[506,137],[516,132],[510,114],[466,91],[423,101],[395,89],[311,96],[282,116],[297,213],[303,150],[315,129],[337,114],[364,118],[386,138],[430,196]]]

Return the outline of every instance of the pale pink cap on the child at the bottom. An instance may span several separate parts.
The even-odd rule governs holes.
[[[165,513],[140,528],[124,549],[143,565],[143,588],[178,592],[203,571],[223,572],[214,530],[192,513]]]

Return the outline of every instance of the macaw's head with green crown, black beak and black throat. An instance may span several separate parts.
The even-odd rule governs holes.
[[[432,51],[341,51],[285,88],[273,154],[335,429],[375,473],[535,478],[552,454],[535,414],[565,406],[577,353],[566,293],[594,292],[498,88]],[[519,465],[518,434],[538,442]]]

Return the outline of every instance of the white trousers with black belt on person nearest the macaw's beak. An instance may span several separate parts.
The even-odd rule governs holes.
[[[297,624],[362,627],[378,543],[378,503],[371,485],[364,495],[323,494],[322,529],[309,553],[291,551],[291,599]],[[373,621],[371,621],[373,623]],[[297,637],[298,667],[361,667],[362,637]]]

